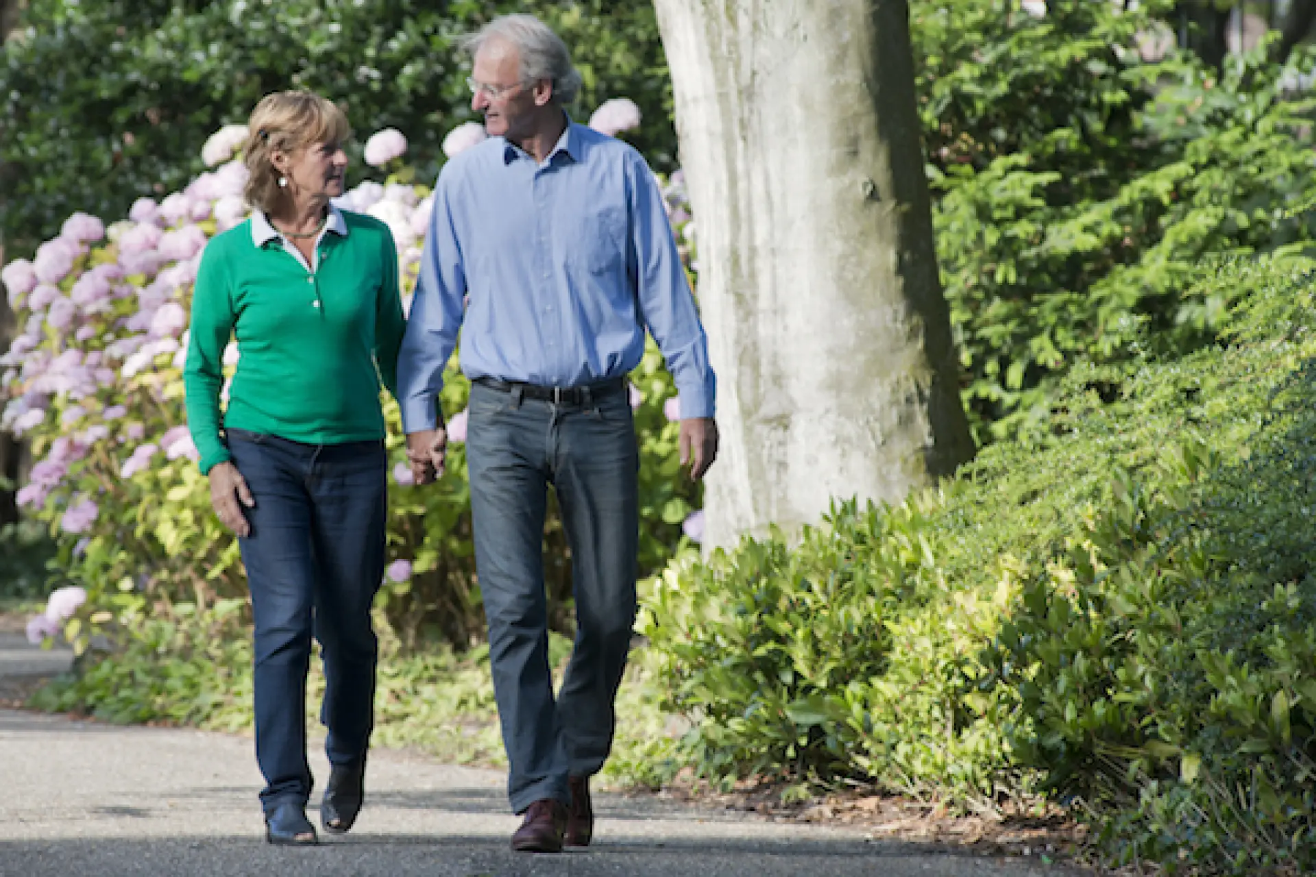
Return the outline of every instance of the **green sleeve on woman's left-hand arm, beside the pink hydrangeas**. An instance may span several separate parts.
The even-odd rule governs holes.
[[[224,255],[209,245],[201,255],[192,291],[192,321],[183,367],[187,429],[200,454],[201,475],[230,459],[220,439],[220,389],[224,385],[224,347],[233,334],[233,296]]]

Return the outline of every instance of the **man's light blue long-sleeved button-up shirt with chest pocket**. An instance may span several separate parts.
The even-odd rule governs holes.
[[[645,159],[570,120],[542,164],[491,137],[438,175],[397,359],[403,429],[434,427],[458,330],[470,379],[578,387],[638,366],[646,327],[680,415],[712,417],[708,339]]]

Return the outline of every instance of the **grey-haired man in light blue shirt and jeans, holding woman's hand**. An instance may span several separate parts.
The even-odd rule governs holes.
[[[626,373],[653,333],[680,396],[682,462],[717,452],[713,372],[662,196],[630,146],[572,124],[580,76],[532,16],[467,45],[490,139],[438,176],[399,359],[418,484],[443,469],[436,398],[462,329],[467,465],[494,688],[525,820],[519,851],[586,845],[588,780],[612,747],[636,614],[638,450]],[[463,310],[463,296],[467,304]],[[554,701],[542,531],[547,485],[571,546],[576,639]]]

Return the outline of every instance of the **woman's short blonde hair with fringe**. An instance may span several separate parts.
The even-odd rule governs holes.
[[[332,101],[308,91],[266,95],[247,121],[246,166],[251,172],[243,196],[268,213],[283,197],[279,171],[270,160],[275,150],[290,155],[318,143],[341,143],[351,128]]]

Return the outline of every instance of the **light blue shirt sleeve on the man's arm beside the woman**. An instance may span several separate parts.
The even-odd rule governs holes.
[[[412,297],[407,331],[397,355],[397,402],[403,412],[403,431],[434,429],[437,400],[443,389],[443,369],[457,347],[462,325],[466,271],[453,222],[451,164],[445,166],[434,185],[434,212],[425,235],[420,279]]]

